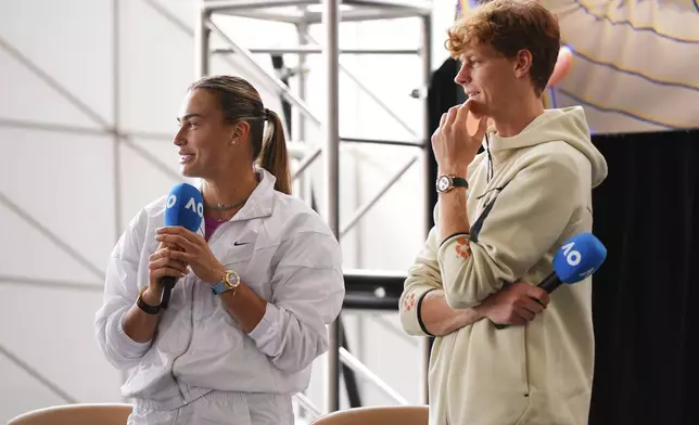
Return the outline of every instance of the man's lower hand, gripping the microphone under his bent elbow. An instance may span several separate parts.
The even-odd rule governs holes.
[[[496,324],[524,325],[548,306],[546,291],[529,283],[513,283],[485,298],[478,307]]]

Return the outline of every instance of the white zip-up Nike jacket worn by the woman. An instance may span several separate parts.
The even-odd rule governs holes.
[[[312,362],[328,349],[326,324],[342,308],[340,245],[302,199],[275,191],[266,170],[258,173],[246,204],[208,242],[216,258],[268,301],[250,334],[190,272],[173,289],[153,340],[134,342],[122,323],[149,283],[166,196],[143,208],[116,244],[96,331],[109,361],[129,373],[125,397],[177,409],[212,390],[293,395],[307,387]]]

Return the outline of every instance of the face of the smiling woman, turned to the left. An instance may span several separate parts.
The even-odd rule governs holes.
[[[174,143],[179,147],[181,173],[191,178],[215,178],[230,173],[245,156],[241,127],[246,123],[224,120],[216,94],[204,89],[187,93],[178,117]],[[244,130],[244,129],[243,129]],[[246,132],[246,131],[244,131]]]

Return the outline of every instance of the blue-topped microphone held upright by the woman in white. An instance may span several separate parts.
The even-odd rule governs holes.
[[[167,195],[165,205],[165,226],[178,226],[196,232],[204,219],[204,198],[199,189],[188,183],[177,184]],[[167,308],[170,293],[177,283],[177,278],[164,276],[161,280],[161,308]]]

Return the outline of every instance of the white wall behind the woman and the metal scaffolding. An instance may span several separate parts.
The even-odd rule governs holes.
[[[445,9],[443,25],[435,25],[436,47],[452,18],[450,7]],[[120,400],[122,376],[94,343],[93,315],[118,234],[140,207],[180,181],[169,139],[194,78],[193,17],[190,0],[23,0],[8,2],[0,14],[0,145],[8,159],[0,167],[1,421],[66,401]],[[295,37],[283,24],[219,22],[246,47],[289,46],[284,41]],[[320,30],[312,31],[318,40]],[[343,25],[341,33],[343,47],[416,48],[418,42],[419,25],[409,20]],[[269,59],[259,57],[270,69]],[[444,57],[435,54],[434,63]],[[259,74],[233,63],[216,60],[212,70],[250,78],[266,105],[280,111]],[[420,102],[409,96],[420,83],[417,57],[346,56],[342,63],[420,133]],[[312,56],[308,67],[308,104],[322,118],[321,57]],[[342,134],[409,137],[344,76],[340,99]],[[309,131],[308,140],[319,144],[321,136]],[[418,153],[343,146],[341,223]],[[312,173],[322,196],[320,167],[319,162]],[[347,267],[410,265],[423,236],[419,170],[420,164],[414,165],[343,239]],[[418,402],[417,340],[401,335],[395,313],[378,320],[361,315],[346,318],[352,348]],[[321,407],[323,361],[317,362],[308,391]],[[366,404],[392,403],[370,386],[364,390]]]

